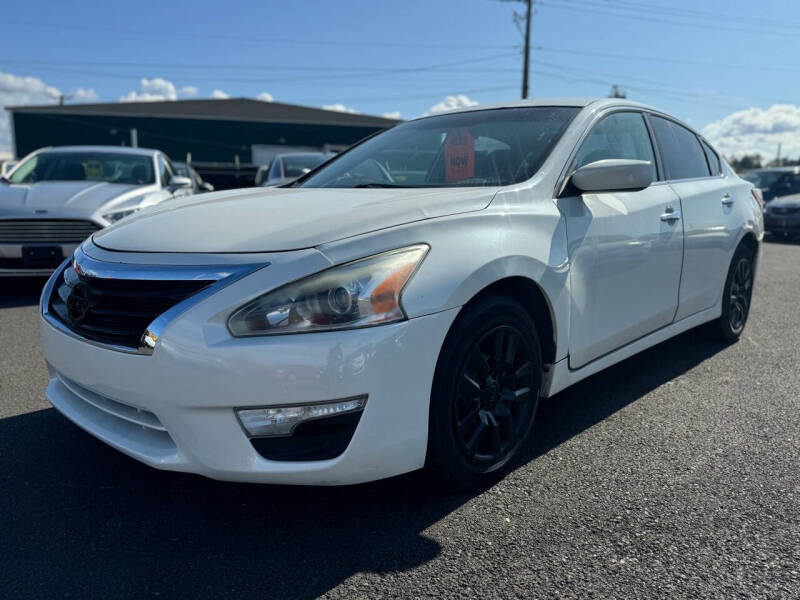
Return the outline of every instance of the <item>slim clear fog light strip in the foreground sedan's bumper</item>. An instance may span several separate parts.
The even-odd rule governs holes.
[[[299,406],[246,408],[236,411],[239,422],[250,437],[292,435],[294,428],[305,421],[335,417],[364,409],[366,396]]]

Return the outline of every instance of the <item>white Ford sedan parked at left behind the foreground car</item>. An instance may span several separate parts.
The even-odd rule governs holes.
[[[37,150],[0,179],[0,276],[49,275],[98,229],[191,191],[158,150]]]

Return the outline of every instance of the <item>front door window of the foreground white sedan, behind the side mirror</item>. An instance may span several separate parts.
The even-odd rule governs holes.
[[[641,113],[614,113],[597,123],[578,150],[575,168],[607,158],[646,160],[653,181],[658,179],[653,145]]]

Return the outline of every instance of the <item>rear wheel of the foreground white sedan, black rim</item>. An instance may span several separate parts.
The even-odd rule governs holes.
[[[728,268],[722,294],[722,315],[713,326],[718,337],[728,344],[739,340],[750,315],[755,275],[754,258],[755,253],[750,248],[739,246]]]

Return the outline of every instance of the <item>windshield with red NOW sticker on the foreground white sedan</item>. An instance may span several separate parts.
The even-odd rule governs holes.
[[[370,138],[301,187],[501,186],[530,179],[579,111],[525,107],[411,121]]]

